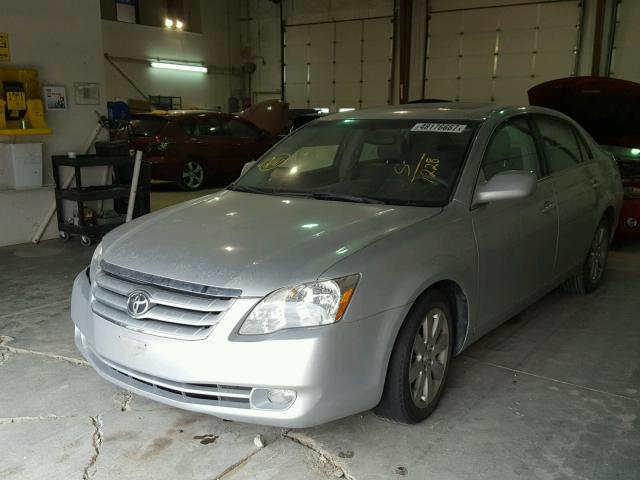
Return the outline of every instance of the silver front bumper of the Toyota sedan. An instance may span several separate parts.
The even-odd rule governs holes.
[[[78,349],[110,382],[141,396],[228,420],[290,428],[325,423],[374,407],[405,309],[255,339],[234,329],[258,299],[240,298],[203,340],[157,337],[115,325],[90,308],[85,273],[75,280],[71,317]],[[295,400],[266,409],[264,389]]]

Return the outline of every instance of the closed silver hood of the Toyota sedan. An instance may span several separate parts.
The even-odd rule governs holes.
[[[441,210],[224,191],[114,231],[103,258],[263,296],[314,280],[342,258]]]

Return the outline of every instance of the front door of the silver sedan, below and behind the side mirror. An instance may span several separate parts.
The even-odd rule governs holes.
[[[547,288],[555,270],[555,194],[551,180],[542,174],[539,146],[527,115],[506,120],[496,129],[478,183],[503,171],[532,172],[539,180],[528,198],[490,202],[471,212],[485,331]]]

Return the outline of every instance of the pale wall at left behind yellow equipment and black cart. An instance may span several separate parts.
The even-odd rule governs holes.
[[[79,151],[96,125],[94,110],[106,113],[100,30],[98,0],[0,0],[0,31],[9,32],[11,45],[11,63],[6,66],[36,68],[42,85],[64,85],[67,90],[68,109],[46,113],[53,135],[17,140],[44,143],[45,185],[52,183],[51,155]],[[74,82],[98,83],[100,105],[76,105]],[[0,245],[29,241],[53,201],[51,188],[3,191]],[[52,225],[47,236],[56,232]]]

